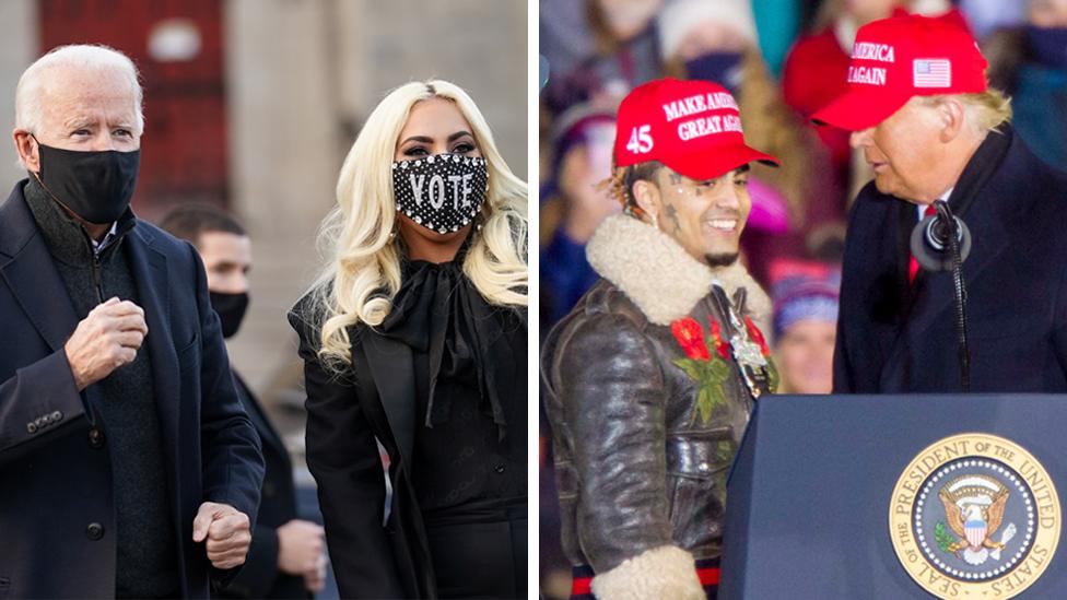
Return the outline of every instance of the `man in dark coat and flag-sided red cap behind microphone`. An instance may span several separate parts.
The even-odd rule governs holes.
[[[848,223],[836,392],[1067,391],[1067,175],[1013,131],[985,69],[949,20],[876,21],[856,35],[848,91],[812,116],[852,131],[875,172]],[[953,273],[916,260],[950,255],[925,228],[912,240],[938,200],[973,239],[965,328]]]

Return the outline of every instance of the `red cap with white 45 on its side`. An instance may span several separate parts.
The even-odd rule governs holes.
[[[659,161],[690,179],[712,179],[760,161],[778,161],[744,144],[737,102],[710,81],[660,79],[635,87],[619,105],[617,166]]]

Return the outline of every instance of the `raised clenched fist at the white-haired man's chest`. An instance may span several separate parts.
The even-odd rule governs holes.
[[[132,302],[113,297],[93,308],[63,345],[78,391],[132,363],[148,332],[144,310]]]

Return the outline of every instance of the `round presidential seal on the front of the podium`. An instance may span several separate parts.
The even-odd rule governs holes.
[[[919,452],[889,508],[896,557],[938,598],[1022,592],[1052,561],[1059,526],[1059,496],[1044,467],[1019,445],[978,433]]]

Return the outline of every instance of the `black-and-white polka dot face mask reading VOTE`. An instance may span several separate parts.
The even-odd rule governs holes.
[[[436,154],[392,163],[397,210],[437,233],[469,225],[485,202],[489,169],[484,158]]]

